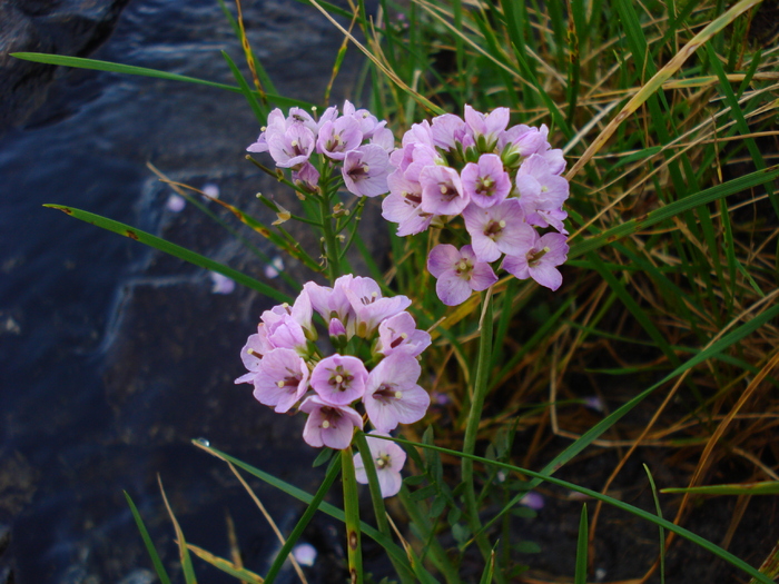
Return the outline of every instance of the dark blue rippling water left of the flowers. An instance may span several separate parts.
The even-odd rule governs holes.
[[[318,101],[339,44],[331,24],[292,0],[244,1],[244,9],[279,90]],[[67,33],[57,29],[73,23],[67,14],[38,24],[66,51],[105,40],[91,57],[231,82],[219,50],[236,61],[240,51],[216,0],[132,0],[116,14],[112,31],[110,18]],[[343,90],[354,70],[347,63]],[[316,453],[299,439],[300,420],[233,384],[237,352],[274,303],[243,289],[211,294],[205,270],[41,207],[67,204],[129,222],[263,278],[262,263],[191,206],[166,210],[170,190],[145,166],[252,201],[277,188],[243,159],[258,125],[238,95],[95,71],[36,75],[36,91],[4,93],[0,103],[27,118],[0,138],[0,529],[11,537],[0,583],[11,573],[18,584],[150,582],[124,489],[180,581],[157,475],[188,541],[227,556],[229,514],[247,566],[265,570],[276,544],[264,519],[225,465],[189,441],[207,437],[315,487]],[[299,506],[252,486],[289,529]],[[312,582],[339,574],[333,528],[317,519],[308,534],[321,551]]]

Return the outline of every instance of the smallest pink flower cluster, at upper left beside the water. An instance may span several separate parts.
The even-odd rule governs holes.
[[[322,155],[325,161],[341,165],[349,192],[376,197],[387,191],[389,152],[394,148],[395,138],[385,120],[378,121],[369,111],[345,101],[343,113],[332,106],[319,119],[300,108],[292,108],[286,117],[274,109],[247,150],[269,152],[277,167],[292,169],[294,182],[312,191],[322,170],[312,164],[312,156]]]

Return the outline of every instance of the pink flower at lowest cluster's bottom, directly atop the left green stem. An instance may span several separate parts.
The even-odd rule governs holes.
[[[328,404],[316,395],[300,404],[300,412],[308,414],[303,439],[316,448],[343,451],[352,444],[354,428],[363,429],[363,418],[353,408]]]

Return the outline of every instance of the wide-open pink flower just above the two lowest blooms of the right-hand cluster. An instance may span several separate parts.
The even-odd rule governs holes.
[[[524,222],[524,212],[516,199],[506,199],[486,209],[470,205],[463,211],[463,219],[480,261],[495,261],[501,254],[523,254],[533,244],[535,231]]]

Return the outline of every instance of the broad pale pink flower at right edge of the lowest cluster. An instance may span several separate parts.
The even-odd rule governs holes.
[[[401,423],[412,424],[424,417],[430,396],[416,385],[421,373],[418,362],[403,353],[393,353],[373,368],[363,403],[377,430],[389,432]]]

